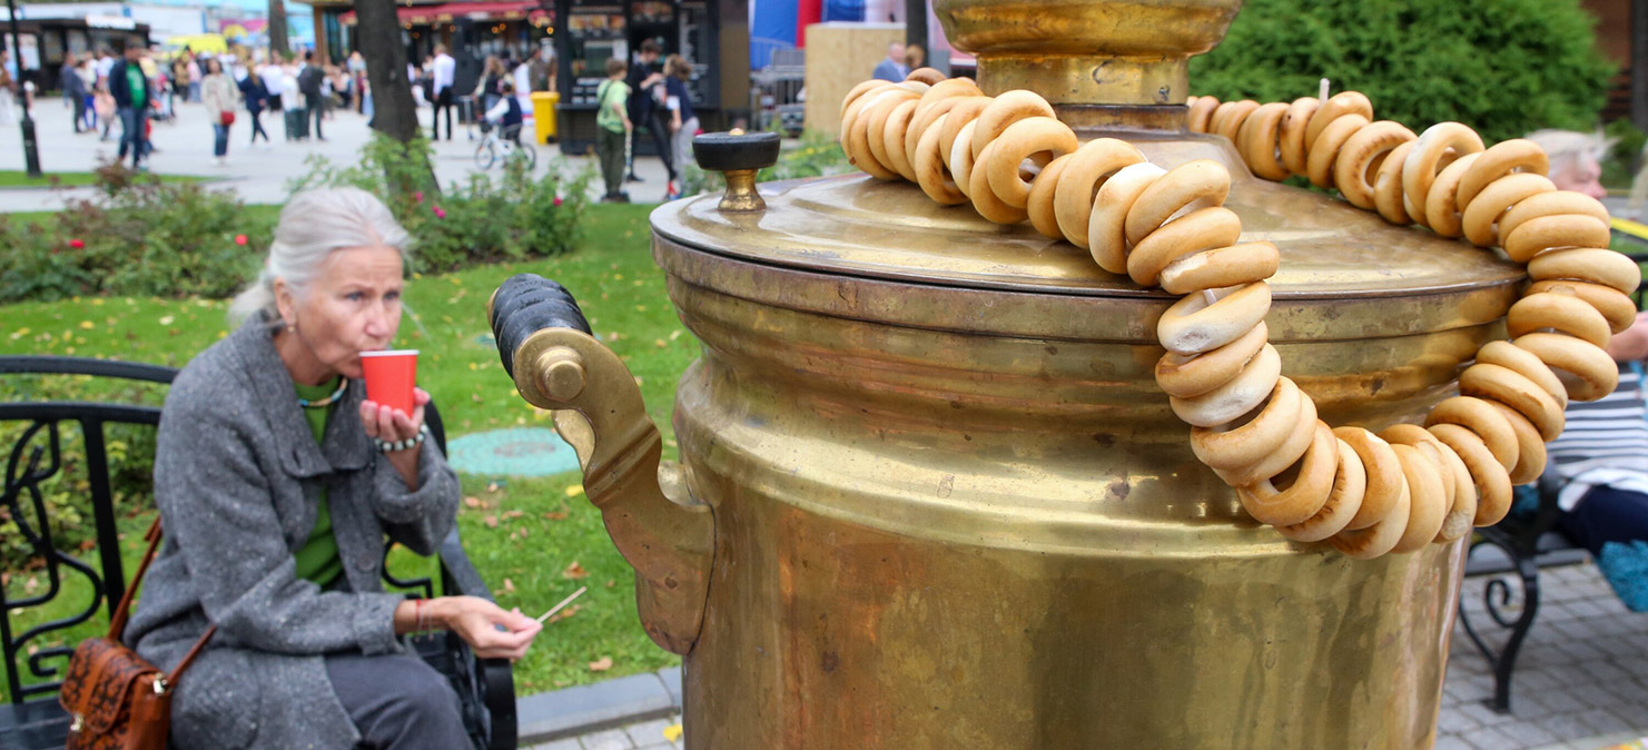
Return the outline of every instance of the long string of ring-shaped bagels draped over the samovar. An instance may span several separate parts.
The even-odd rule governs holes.
[[[840,143],[875,178],[999,224],[1030,221],[1111,274],[1182,295],[1157,323],[1157,384],[1192,425],[1196,458],[1284,537],[1374,559],[1503,519],[1511,486],[1544,470],[1567,402],[1618,384],[1605,346],[1635,321],[1640,272],[1607,249],[1602,203],[1557,190],[1529,140],[1485,147],[1457,122],[1414,135],[1374,120],[1353,91],[1290,104],[1192,97],[1188,117],[1261,178],[1305,175],[1394,224],[1503,249],[1533,280],[1506,315],[1510,341],[1485,345],[1424,425],[1332,427],[1282,376],[1264,325],[1280,259],[1271,242],[1239,242],[1223,165],[1165,170],[1124,140],[1081,143],[1038,94],[990,97],[933,69],[855,86]]]

